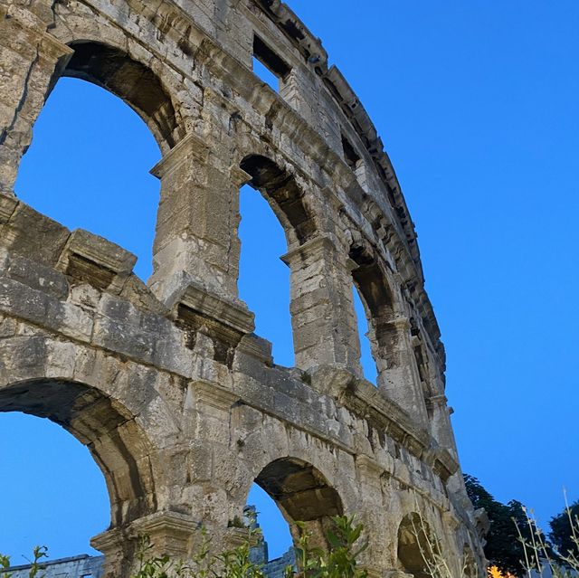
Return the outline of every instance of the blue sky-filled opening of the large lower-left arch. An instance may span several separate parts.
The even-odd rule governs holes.
[[[109,496],[89,451],[56,423],[0,414],[0,553],[28,564],[33,547],[50,559],[100,555],[90,538],[109,526]]]

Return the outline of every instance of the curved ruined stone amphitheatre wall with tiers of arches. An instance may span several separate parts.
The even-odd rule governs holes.
[[[329,516],[356,514],[371,576],[420,575],[418,512],[453,560],[481,564],[413,222],[318,39],[278,0],[0,0],[0,22],[0,411],[89,447],[109,488],[111,524],[92,540],[105,575],[128,575],[139,533],[179,556],[200,522],[236,544],[254,481],[320,544]],[[128,251],[14,196],[62,76],[118,95],[157,138],[147,286]],[[237,295],[244,184],[286,233],[293,368],[272,364]]]

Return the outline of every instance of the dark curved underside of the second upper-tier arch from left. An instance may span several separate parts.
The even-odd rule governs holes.
[[[316,236],[316,223],[305,200],[304,191],[286,168],[258,154],[244,156],[240,166],[251,175],[248,185],[257,189],[271,204],[286,232],[288,246],[299,245]]]

